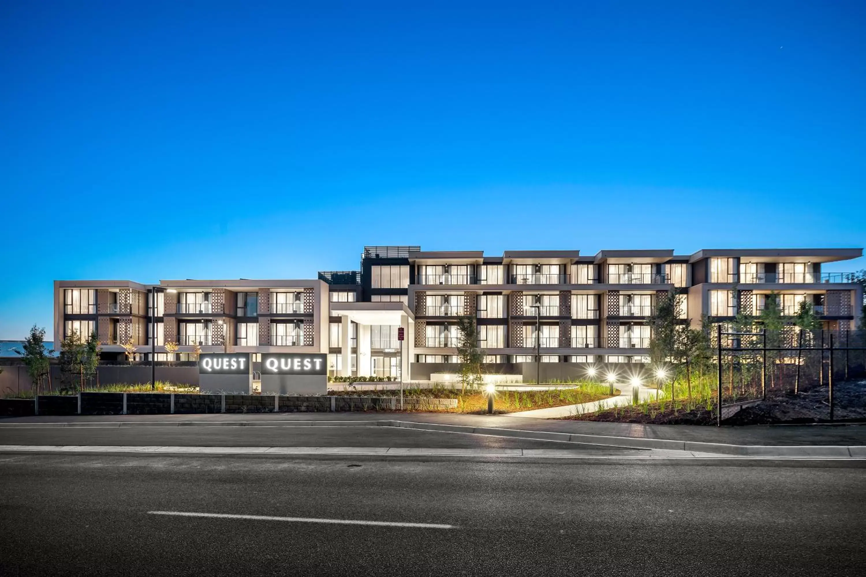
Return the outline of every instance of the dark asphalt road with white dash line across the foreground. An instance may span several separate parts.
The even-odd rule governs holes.
[[[850,461],[0,454],[0,574],[859,575],[863,473]]]

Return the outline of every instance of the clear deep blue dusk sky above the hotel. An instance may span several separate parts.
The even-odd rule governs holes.
[[[361,4],[0,4],[0,338],[365,244],[866,245],[866,3]]]

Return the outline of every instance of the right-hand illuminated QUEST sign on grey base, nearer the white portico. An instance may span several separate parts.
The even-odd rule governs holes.
[[[262,353],[262,393],[326,394],[327,356]]]

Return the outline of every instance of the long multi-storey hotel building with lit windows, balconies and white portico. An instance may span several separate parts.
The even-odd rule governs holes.
[[[457,362],[457,317],[476,319],[496,372],[536,361],[571,375],[585,362],[647,362],[649,318],[674,291],[683,324],[758,316],[775,292],[792,317],[814,305],[825,329],[853,330],[863,302],[852,275],[822,272],[863,249],[428,252],[365,247],[357,271],[317,279],[55,281],[55,343],[95,333],[106,360],[178,360],[201,352],[326,353],[329,373],[423,380]],[[155,304],[155,306],[154,306]],[[404,341],[397,338],[404,330]],[[553,365],[546,367],[554,369]],[[550,374],[550,371],[548,371]]]

